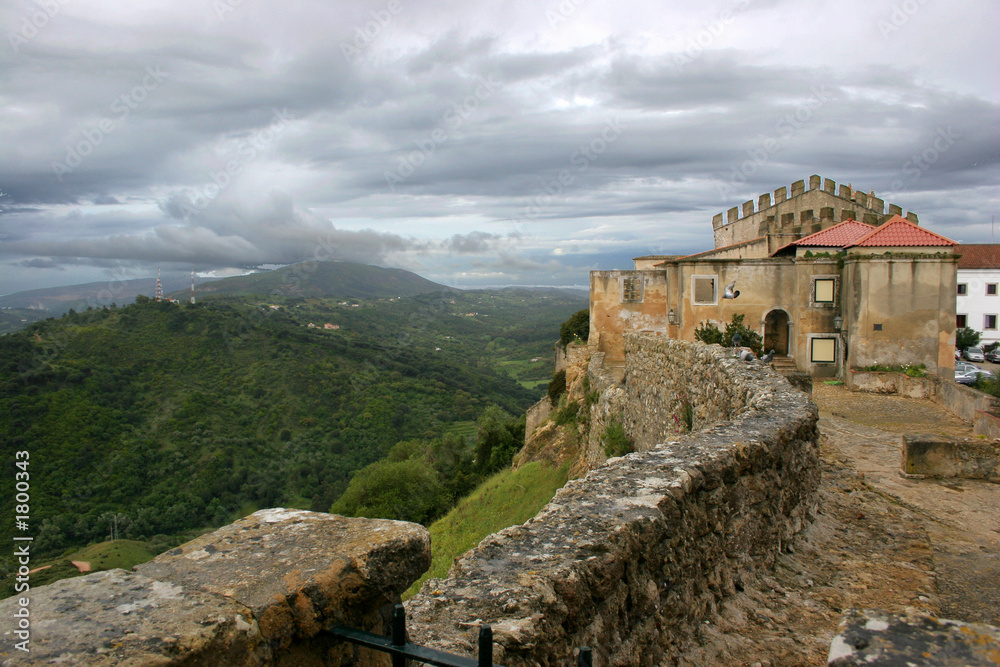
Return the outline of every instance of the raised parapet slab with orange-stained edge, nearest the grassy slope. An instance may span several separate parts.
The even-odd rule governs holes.
[[[284,508],[261,510],[135,571],[248,607],[278,647],[338,623],[380,632],[372,611],[430,567],[423,526]],[[388,613],[388,612],[386,612]]]

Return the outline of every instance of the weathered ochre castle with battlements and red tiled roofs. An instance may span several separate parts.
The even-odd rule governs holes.
[[[591,272],[591,348],[620,364],[630,331],[694,340],[699,325],[742,314],[765,351],[813,377],[922,364],[949,378],[957,243],[830,179],[811,176],[787,194],[717,214],[712,250]]]

